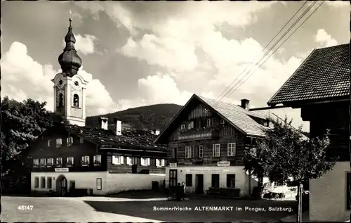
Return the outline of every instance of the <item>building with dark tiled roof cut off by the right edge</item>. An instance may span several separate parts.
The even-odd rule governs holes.
[[[310,180],[310,220],[342,222],[350,215],[349,44],[315,49],[268,101],[300,108],[310,136],[330,130],[327,154],[338,157],[333,170]]]

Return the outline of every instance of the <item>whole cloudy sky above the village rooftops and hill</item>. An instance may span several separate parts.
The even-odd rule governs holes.
[[[1,1],[1,95],[47,101],[53,109],[51,79],[60,72],[70,9],[80,72],[91,78],[87,115],[183,105],[192,94],[218,98],[303,3]],[[241,86],[225,100],[267,106],[313,49],[349,42],[349,22],[347,1],[326,1],[260,68],[246,69],[256,72],[244,84],[242,73],[235,87]],[[300,110],[271,112],[308,129]]]

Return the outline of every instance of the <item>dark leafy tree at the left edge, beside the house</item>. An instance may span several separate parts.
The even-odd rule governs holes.
[[[5,96],[1,101],[2,173],[23,165],[20,153],[45,129],[55,122],[67,123],[62,116],[47,111],[45,106],[46,102],[41,103],[31,98],[18,102]]]

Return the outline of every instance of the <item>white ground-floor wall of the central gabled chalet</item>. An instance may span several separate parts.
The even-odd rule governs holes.
[[[204,191],[211,187],[212,174],[220,174],[220,187],[227,186],[227,174],[235,174],[235,188],[240,189],[241,195],[249,193],[249,175],[244,167],[166,167],[166,181],[169,181],[169,170],[178,170],[178,183],[185,182],[185,175],[192,174],[192,186],[186,187],[187,193],[195,192],[196,174],[204,174]],[[251,188],[257,186],[257,181],[251,181]]]

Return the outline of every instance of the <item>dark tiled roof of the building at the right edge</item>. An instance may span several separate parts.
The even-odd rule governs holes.
[[[349,44],[314,49],[267,104],[348,97],[350,72]]]

